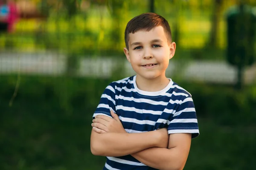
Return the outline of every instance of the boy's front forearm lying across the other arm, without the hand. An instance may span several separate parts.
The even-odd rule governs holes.
[[[155,131],[143,133],[91,134],[91,152],[98,156],[125,156],[156,147],[159,137]]]

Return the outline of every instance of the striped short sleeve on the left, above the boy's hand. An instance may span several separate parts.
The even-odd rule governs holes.
[[[108,85],[99,101],[99,105],[96,108],[96,111],[93,114],[93,119],[96,115],[107,115],[111,116],[110,109],[116,113],[115,109],[115,86],[113,86],[113,83]],[[112,117],[112,116],[111,116]]]

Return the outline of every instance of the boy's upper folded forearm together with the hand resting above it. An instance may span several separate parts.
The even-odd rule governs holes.
[[[93,120],[90,148],[93,155],[125,156],[150,147],[167,147],[167,129],[143,133],[126,133],[118,116],[98,115]],[[96,128],[99,127],[99,128]],[[108,133],[106,133],[108,132]]]

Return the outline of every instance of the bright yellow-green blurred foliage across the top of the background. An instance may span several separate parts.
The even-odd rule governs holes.
[[[11,40],[11,48],[31,51],[38,49],[66,51],[67,47],[70,47],[70,50],[84,51],[84,54],[89,55],[106,54],[107,51],[120,53],[125,46],[123,33],[127,22],[136,15],[148,12],[149,1],[58,0],[47,2],[42,0],[40,5],[42,11],[47,13],[47,20],[19,20],[16,31],[12,34],[13,37],[3,36],[4,40]],[[209,10],[200,9],[196,2],[192,3],[177,0],[155,1],[156,12],[169,21],[174,40],[182,49],[201,49],[209,38]],[[211,6],[212,2],[206,3],[207,6]],[[224,18],[221,17],[220,20],[223,22]],[[222,49],[225,47],[224,26],[221,23],[218,28],[220,33],[218,48]],[[69,36],[72,38],[68,38]],[[3,47],[4,44],[0,43],[0,46]],[[215,57],[219,56],[215,55]]]

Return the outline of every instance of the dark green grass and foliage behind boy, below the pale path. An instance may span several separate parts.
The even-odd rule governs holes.
[[[105,158],[90,153],[90,124],[102,92],[117,78],[21,76],[9,107],[16,80],[0,77],[0,169],[102,169]],[[200,128],[184,170],[255,167],[256,88],[178,83],[193,96]]]

